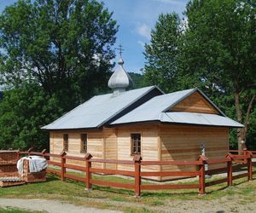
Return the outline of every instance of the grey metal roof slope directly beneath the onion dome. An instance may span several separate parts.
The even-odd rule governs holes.
[[[113,96],[113,94],[96,95],[89,101],[85,101],[79,105],[79,107],[67,112],[67,114],[58,118],[53,123],[44,126],[42,129],[69,130],[97,128],[153,89],[158,88],[156,86],[150,86],[141,89],[132,89],[118,96]]]

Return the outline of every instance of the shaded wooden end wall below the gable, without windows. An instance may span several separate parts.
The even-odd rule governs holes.
[[[208,158],[222,158],[229,150],[229,128],[160,125],[161,160],[196,160],[201,155],[201,143],[205,143]],[[219,168],[212,164],[209,169]],[[162,171],[196,170],[195,166],[162,166]],[[168,176],[162,180],[169,180]],[[174,179],[172,177],[172,179]]]

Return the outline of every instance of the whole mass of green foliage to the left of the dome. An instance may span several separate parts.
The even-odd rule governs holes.
[[[117,32],[96,0],[19,0],[0,14],[0,148],[49,146],[40,127],[105,91]]]

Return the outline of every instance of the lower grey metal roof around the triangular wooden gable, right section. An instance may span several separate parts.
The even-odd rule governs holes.
[[[210,101],[210,103],[218,110],[220,115],[195,112],[166,112],[168,109],[176,105],[178,102],[183,101],[185,97],[194,93],[195,91],[199,91],[202,95],[204,95],[199,89],[187,89],[166,95],[155,96],[140,107],[137,107],[133,111],[125,114],[125,116],[113,121],[111,124],[160,121],[178,124],[243,127],[242,124],[227,118],[224,113],[212,103],[212,101]],[[206,97],[206,95],[204,96]]]

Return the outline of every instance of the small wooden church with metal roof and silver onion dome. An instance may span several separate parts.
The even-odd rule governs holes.
[[[108,86],[113,93],[96,95],[42,129],[49,131],[50,153],[132,160],[195,160],[204,144],[208,158],[229,150],[229,130],[243,125],[227,118],[200,89],[165,94],[156,86],[126,90],[131,77],[124,61]],[[73,163],[74,162],[70,162]],[[129,165],[96,164],[107,169],[134,170]],[[143,170],[183,170],[177,166],[145,166]],[[168,177],[158,178],[168,180]]]

